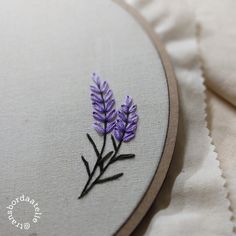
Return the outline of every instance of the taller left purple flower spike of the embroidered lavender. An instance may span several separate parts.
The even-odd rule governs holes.
[[[92,80],[95,85],[90,86],[93,105],[93,118],[96,122],[94,129],[101,135],[110,133],[115,127],[116,110],[113,92],[106,81],[93,73]]]

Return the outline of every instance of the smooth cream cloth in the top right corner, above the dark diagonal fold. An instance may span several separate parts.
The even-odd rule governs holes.
[[[236,1],[189,2],[196,11],[207,86],[236,106]]]

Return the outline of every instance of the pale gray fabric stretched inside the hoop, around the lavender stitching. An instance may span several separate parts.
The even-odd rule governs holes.
[[[134,19],[110,0],[0,2],[0,229],[25,235],[7,219],[21,194],[43,213],[29,233],[106,236],[127,219],[159,163],[168,123],[168,92],[160,58]],[[92,129],[90,74],[109,81],[117,104],[138,104],[137,137],[122,147],[136,159],[108,173],[117,182],[77,200],[86,181],[83,154]],[[22,220],[29,218],[28,209]]]

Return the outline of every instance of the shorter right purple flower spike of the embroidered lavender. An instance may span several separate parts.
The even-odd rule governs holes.
[[[138,115],[137,106],[133,104],[133,99],[126,96],[125,102],[118,111],[116,127],[114,130],[115,138],[120,142],[129,142],[135,137]]]

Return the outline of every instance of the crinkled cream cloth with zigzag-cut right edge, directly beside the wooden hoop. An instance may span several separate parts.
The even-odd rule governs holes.
[[[181,109],[179,136],[169,174],[154,206],[134,235],[232,235],[225,181],[205,122],[205,86],[194,6],[190,1],[129,3],[166,44],[177,75]]]

